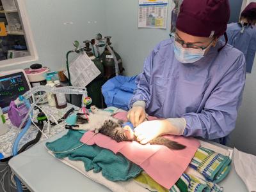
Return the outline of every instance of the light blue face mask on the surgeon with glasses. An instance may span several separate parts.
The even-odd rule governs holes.
[[[195,63],[205,54],[205,49],[184,48],[177,41],[174,41],[173,46],[175,57],[180,63]]]

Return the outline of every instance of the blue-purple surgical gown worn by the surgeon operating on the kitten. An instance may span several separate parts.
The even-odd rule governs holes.
[[[136,78],[129,103],[145,101],[146,112],[160,118],[186,119],[183,135],[209,140],[227,136],[234,128],[245,82],[242,52],[218,41],[193,64],[175,58],[173,40],[159,43]]]

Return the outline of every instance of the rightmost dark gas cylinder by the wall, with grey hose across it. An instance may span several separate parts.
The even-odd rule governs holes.
[[[110,42],[111,36],[106,36],[105,38],[107,39],[107,43],[108,43],[109,47],[111,47],[110,46],[112,44]],[[120,73],[120,75],[122,75],[122,72],[124,71],[122,59],[121,59],[120,55],[115,52],[113,47],[111,47],[111,49],[113,50],[113,52],[116,56],[116,59],[118,61],[119,73]],[[110,54],[108,48],[105,47],[105,50],[100,55],[99,59],[100,59],[101,63],[104,66],[105,77],[107,79],[111,78],[111,77],[114,77],[115,76],[115,61],[113,59],[113,55]]]

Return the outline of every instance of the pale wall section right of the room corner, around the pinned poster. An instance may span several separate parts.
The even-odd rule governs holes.
[[[123,59],[125,75],[136,75],[157,43],[170,38],[170,17],[168,29],[138,29],[137,0],[108,0],[106,9],[108,35],[113,36],[113,47]]]

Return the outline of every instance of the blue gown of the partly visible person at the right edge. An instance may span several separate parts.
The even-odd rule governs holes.
[[[237,23],[228,24],[228,43],[243,52],[246,59],[246,72],[251,73],[256,52],[256,26],[242,27]]]

